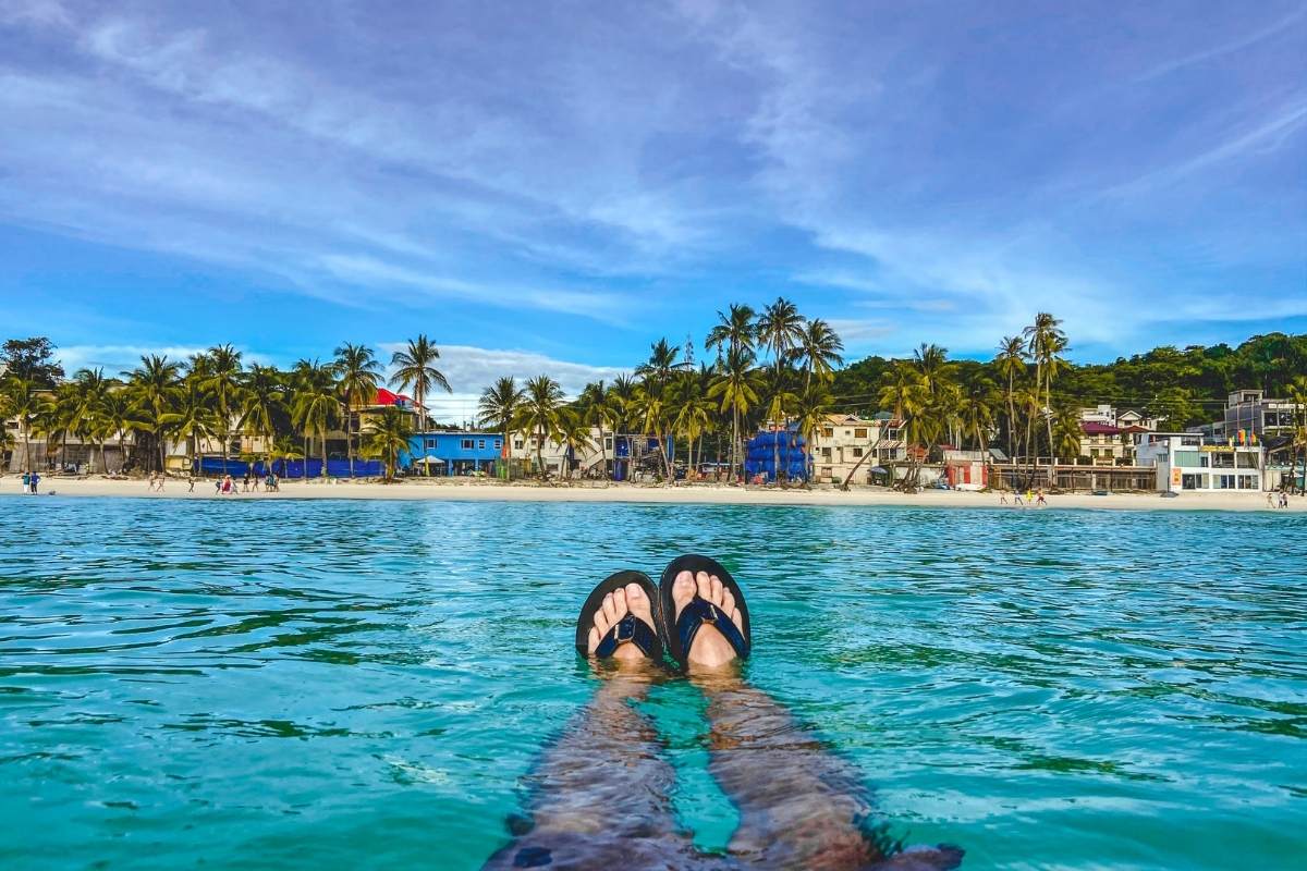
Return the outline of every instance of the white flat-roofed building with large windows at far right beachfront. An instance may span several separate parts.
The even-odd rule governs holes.
[[[1233,445],[1199,432],[1153,432],[1137,456],[1141,466],[1155,469],[1161,492],[1256,492],[1264,486],[1261,445]]]

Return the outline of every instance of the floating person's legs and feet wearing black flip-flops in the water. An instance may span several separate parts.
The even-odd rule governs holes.
[[[852,765],[742,678],[750,648],[744,593],[715,560],[681,556],[657,586],[634,571],[604,580],[576,623],[597,692],[542,753],[529,817],[485,867],[957,867],[955,846],[902,850],[887,836]],[[637,708],[682,676],[707,703],[708,772],[740,816],[725,855],[699,851],[677,823],[676,773]]]

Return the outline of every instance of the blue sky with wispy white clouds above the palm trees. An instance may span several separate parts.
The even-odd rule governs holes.
[[[451,417],[778,294],[851,358],[1303,332],[1307,5],[0,0],[0,262],[71,366],[421,330]]]

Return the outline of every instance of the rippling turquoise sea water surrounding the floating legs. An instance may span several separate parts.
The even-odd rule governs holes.
[[[0,500],[0,867],[474,868],[593,692],[574,610],[718,555],[749,680],[966,868],[1290,867],[1307,518]],[[706,847],[691,688],[647,703]]]

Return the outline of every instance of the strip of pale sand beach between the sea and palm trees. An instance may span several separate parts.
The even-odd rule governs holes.
[[[237,482],[239,484],[239,482]],[[0,495],[21,495],[20,475],[0,477]],[[169,479],[162,494],[149,492],[145,481],[108,481],[106,478],[42,477],[41,491],[59,496],[129,496],[136,499],[218,499],[212,481],[196,481],[195,492],[187,492],[184,481]],[[999,508],[999,494],[951,492],[929,490],[916,495],[881,488],[860,487],[848,492],[829,487],[813,490],[770,490],[763,487],[718,487],[691,484],[677,487],[614,484],[538,486],[535,483],[505,484],[494,481],[405,481],[382,484],[358,481],[282,482],[280,494],[250,492],[222,499],[437,499],[450,501],[600,501],[647,504],[723,504],[723,505],[914,505],[921,508]],[[1010,498],[1009,498],[1010,500]],[[1111,508],[1123,511],[1269,511],[1261,492],[1182,494],[1163,499],[1157,494],[1112,494],[1110,496],[1053,495],[1050,508]],[[1019,509],[1017,509],[1019,511]],[[1291,512],[1307,511],[1307,499],[1293,496]],[[1289,513],[1281,511],[1280,513]]]

